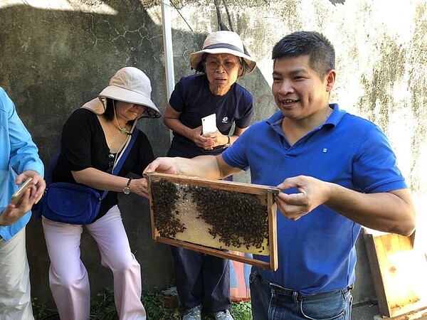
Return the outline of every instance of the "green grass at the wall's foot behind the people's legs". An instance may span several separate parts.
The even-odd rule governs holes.
[[[171,308],[168,308],[168,304],[160,290],[144,292],[141,300],[147,312],[148,320],[181,320],[184,313],[184,308],[179,303],[175,303]],[[235,320],[252,320],[250,302],[233,302],[230,312]],[[58,311],[39,302],[37,298],[33,298],[33,313],[36,320],[59,320]],[[118,319],[112,289],[104,289],[93,299],[90,306],[90,319]],[[202,314],[202,320],[212,319],[214,318],[209,313],[204,312]]]

